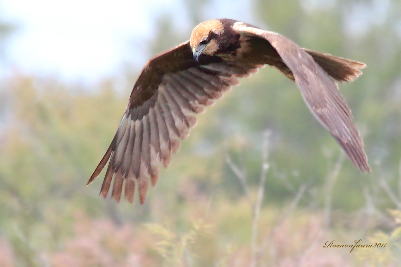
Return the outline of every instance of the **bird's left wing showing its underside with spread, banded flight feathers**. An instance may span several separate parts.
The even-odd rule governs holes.
[[[201,113],[223,92],[238,84],[237,77],[256,72],[251,63],[224,62],[217,57],[193,59],[189,42],[151,59],[132,90],[128,107],[110,147],[90,177],[91,183],[110,159],[100,193],[119,201],[125,181],[125,197],[133,202],[138,187],[145,201],[149,182],[158,179],[158,166],[170,162],[171,154],[195,126]]]

